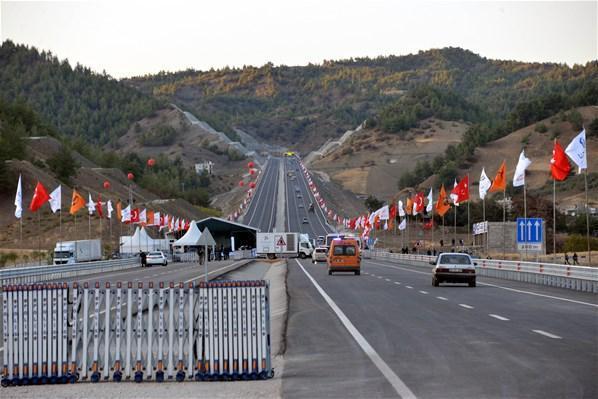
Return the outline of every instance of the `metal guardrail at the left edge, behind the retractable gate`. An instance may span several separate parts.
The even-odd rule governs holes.
[[[0,285],[32,284],[63,280],[93,273],[109,272],[139,266],[139,258],[82,262],[71,265],[46,265],[11,268],[0,271]]]

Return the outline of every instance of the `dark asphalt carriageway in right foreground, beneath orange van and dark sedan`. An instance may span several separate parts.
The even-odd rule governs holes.
[[[377,260],[328,276],[301,261],[376,363],[289,262],[285,398],[598,397],[595,295],[486,278],[435,288],[426,268]]]

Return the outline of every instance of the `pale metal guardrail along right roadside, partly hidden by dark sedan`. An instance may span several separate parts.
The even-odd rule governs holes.
[[[365,258],[417,262],[431,268],[435,256],[391,253],[382,250],[364,251]],[[598,293],[598,268],[542,262],[518,262],[498,259],[474,259],[479,276],[522,281],[576,291]]]

